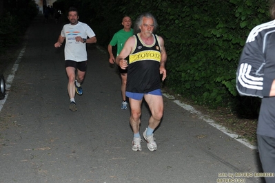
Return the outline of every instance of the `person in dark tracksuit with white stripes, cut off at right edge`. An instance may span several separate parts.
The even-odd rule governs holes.
[[[275,1],[271,7],[275,19]],[[265,181],[275,177],[275,20],[249,33],[236,72],[236,88],[242,96],[262,98],[257,142]]]

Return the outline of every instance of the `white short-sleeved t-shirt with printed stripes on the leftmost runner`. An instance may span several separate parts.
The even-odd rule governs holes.
[[[95,36],[94,31],[86,24],[78,22],[77,25],[65,24],[61,31],[61,36],[65,37],[65,60],[76,62],[87,61],[86,43],[75,41],[76,36],[87,39]]]

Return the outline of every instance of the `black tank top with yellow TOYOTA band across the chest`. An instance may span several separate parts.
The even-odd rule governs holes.
[[[159,67],[161,61],[161,47],[159,37],[154,35],[154,43],[145,45],[140,35],[134,35],[136,46],[129,56],[127,74],[127,92],[146,94],[160,89]]]

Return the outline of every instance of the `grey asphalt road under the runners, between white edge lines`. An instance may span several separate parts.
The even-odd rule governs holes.
[[[145,143],[143,151],[132,151],[119,74],[96,44],[88,46],[78,111],[70,111],[63,47],[54,47],[61,28],[37,18],[26,33],[0,111],[1,121],[10,124],[0,130],[1,183],[262,182],[254,176],[261,171],[254,149],[165,97],[163,120],[154,132],[157,151]],[[149,117],[143,104],[141,133]]]

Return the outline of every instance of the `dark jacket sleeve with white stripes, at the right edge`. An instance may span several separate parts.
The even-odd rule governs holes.
[[[249,33],[236,72],[236,88],[243,96],[269,96],[272,78],[265,76],[265,39],[267,34],[254,28]]]

